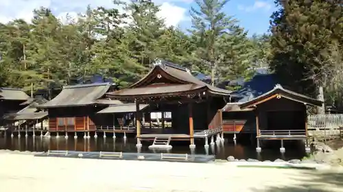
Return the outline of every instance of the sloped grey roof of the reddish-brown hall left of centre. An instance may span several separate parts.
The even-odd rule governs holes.
[[[97,104],[97,99],[104,96],[111,83],[64,86],[62,92],[38,108],[73,107]]]

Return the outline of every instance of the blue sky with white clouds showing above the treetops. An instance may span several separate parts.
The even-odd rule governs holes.
[[[103,6],[113,8],[113,0],[0,0],[0,22],[6,23],[14,18],[23,18],[27,21],[32,18],[32,10],[43,6],[50,8],[58,18],[76,16],[84,12],[87,5],[95,8]],[[189,16],[190,8],[196,7],[193,0],[152,0],[161,5],[158,16],[165,18],[168,26],[181,29],[191,27]],[[230,0],[223,11],[239,20],[239,25],[248,30],[251,36],[254,33],[262,34],[268,31],[272,12],[276,10],[273,0]]]

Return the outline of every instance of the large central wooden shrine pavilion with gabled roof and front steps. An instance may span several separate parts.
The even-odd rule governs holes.
[[[108,98],[135,102],[137,109],[137,144],[140,139],[164,138],[190,140],[209,133],[221,132],[221,111],[230,100],[230,91],[213,87],[193,77],[187,68],[168,61],[160,61],[143,79],[130,87],[109,92]],[[145,116],[139,112],[140,104],[150,105],[148,113],[159,111],[162,114],[162,128],[149,130],[142,122]],[[171,113],[171,126],[165,128],[165,112]],[[141,134],[143,131],[143,134]],[[211,132],[212,131],[212,132]],[[154,146],[154,145],[153,145]]]

